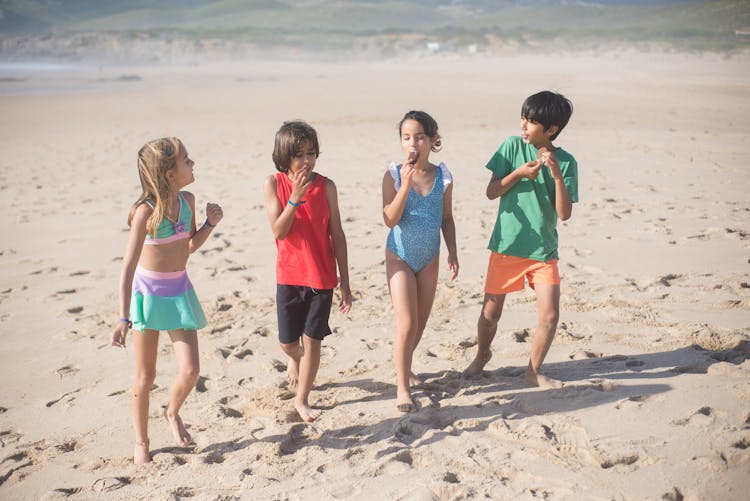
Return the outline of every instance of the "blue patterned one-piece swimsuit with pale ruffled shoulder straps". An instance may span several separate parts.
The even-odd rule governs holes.
[[[391,164],[389,171],[396,190],[401,185],[401,166]],[[391,228],[386,248],[401,258],[414,273],[427,266],[440,252],[440,227],[443,222],[443,192],[452,181],[445,164],[435,170],[432,190],[425,196],[409,190],[401,219]]]

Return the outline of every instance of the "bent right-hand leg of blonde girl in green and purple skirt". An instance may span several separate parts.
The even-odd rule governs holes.
[[[172,428],[172,435],[179,446],[188,446],[191,442],[190,434],[180,419],[180,408],[185,399],[195,387],[200,375],[200,361],[198,358],[198,333],[196,331],[169,331],[172,338],[172,348],[177,358],[177,376],[172,384],[169,404],[165,416]]]

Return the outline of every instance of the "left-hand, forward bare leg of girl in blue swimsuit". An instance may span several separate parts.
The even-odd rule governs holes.
[[[385,273],[391,293],[393,312],[396,315],[396,339],[393,344],[393,361],[396,366],[396,407],[402,412],[415,410],[411,398],[409,378],[414,353],[418,321],[417,278],[411,268],[386,251]]]

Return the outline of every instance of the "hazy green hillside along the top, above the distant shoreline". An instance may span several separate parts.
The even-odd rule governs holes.
[[[569,44],[660,43],[734,49],[750,26],[747,0],[2,0],[0,36],[121,32],[259,45],[345,47],[382,35],[423,35],[453,45],[489,38]]]

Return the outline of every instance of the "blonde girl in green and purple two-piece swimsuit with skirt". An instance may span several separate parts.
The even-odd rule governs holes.
[[[112,332],[112,345],[125,347],[125,338],[133,329],[136,464],[151,461],[148,407],[156,376],[159,331],[169,331],[178,365],[164,415],[177,445],[191,443],[179,410],[198,381],[197,329],[205,327],[206,318],[185,265],[223,217],[221,207],[209,203],[206,221],[196,230],[195,197],[180,191],[194,181],[193,165],[185,146],[173,137],[146,143],[138,152],[143,193],[128,217],[130,235],[120,275],[120,319]]]

